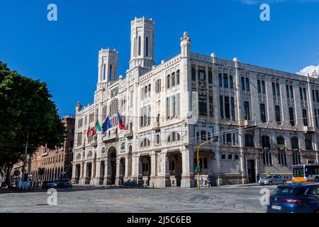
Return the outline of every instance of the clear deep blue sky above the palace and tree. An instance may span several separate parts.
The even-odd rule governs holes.
[[[0,60],[11,70],[47,82],[59,114],[77,101],[93,102],[98,51],[116,48],[118,75],[130,58],[130,21],[155,21],[155,62],[180,50],[184,31],[191,51],[277,70],[319,64],[319,2],[273,0],[271,21],[259,20],[259,1],[1,0]],[[257,2],[254,4],[254,2]],[[58,21],[47,21],[57,4]]]

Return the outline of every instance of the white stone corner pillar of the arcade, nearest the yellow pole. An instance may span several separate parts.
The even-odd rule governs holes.
[[[184,149],[181,151],[181,168],[181,187],[194,187],[193,150]]]

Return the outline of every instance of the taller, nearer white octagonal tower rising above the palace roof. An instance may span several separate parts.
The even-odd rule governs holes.
[[[130,23],[130,69],[154,65],[154,22],[144,16]]]

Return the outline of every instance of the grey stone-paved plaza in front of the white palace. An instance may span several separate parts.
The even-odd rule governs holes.
[[[77,187],[57,189],[57,205],[47,205],[50,194],[0,194],[0,212],[265,212],[261,186],[205,189],[138,189]],[[276,186],[269,187],[270,192]]]

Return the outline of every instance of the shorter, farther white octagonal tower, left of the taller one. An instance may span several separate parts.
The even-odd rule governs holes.
[[[99,51],[99,78],[98,84],[101,82],[113,82],[116,80],[118,70],[118,51],[116,49]]]

